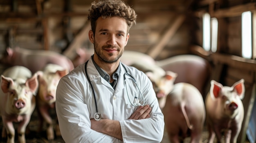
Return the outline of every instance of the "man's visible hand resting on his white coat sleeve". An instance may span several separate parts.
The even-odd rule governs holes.
[[[139,120],[139,119],[147,119],[150,117],[149,113],[151,108],[149,105],[140,106],[129,119]]]

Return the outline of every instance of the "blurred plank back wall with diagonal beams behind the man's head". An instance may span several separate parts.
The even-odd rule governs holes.
[[[20,46],[57,51],[72,59],[76,48],[92,48],[87,16],[93,1],[0,0],[0,53]],[[193,0],[125,1],[138,14],[126,50],[155,59],[189,53]]]

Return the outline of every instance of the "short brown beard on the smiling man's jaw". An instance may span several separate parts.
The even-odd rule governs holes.
[[[110,58],[114,54],[113,53],[108,53],[108,55],[104,55],[104,53],[101,49],[103,49],[103,48],[112,48],[112,46],[106,45],[106,46],[102,46],[102,48],[101,48],[101,47],[99,47],[97,42],[94,42],[94,43],[95,43],[94,44],[94,51],[95,51],[96,55],[98,55],[99,61],[101,61],[103,63],[108,63],[108,64],[115,63],[121,57],[121,55],[124,53],[124,48],[123,49],[119,48],[119,49],[121,49],[121,51],[118,50],[120,53],[117,55],[117,57]]]

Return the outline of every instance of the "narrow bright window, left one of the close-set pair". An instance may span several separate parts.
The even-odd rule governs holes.
[[[211,50],[211,17],[209,13],[203,15],[203,48],[205,51]]]

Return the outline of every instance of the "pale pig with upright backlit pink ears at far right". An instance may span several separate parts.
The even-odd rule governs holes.
[[[221,141],[224,131],[225,143],[236,143],[244,118],[244,79],[233,86],[211,80],[211,88],[205,100],[209,143],[213,143],[215,135]]]

